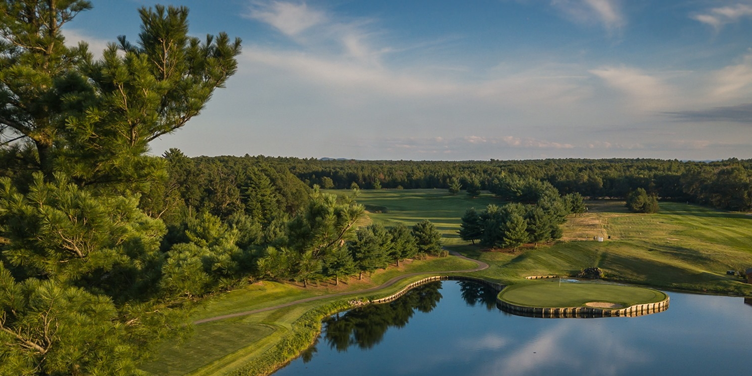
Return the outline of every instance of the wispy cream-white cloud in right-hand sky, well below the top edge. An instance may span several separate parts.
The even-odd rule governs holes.
[[[635,68],[603,67],[590,73],[600,77],[608,86],[626,94],[629,103],[639,111],[653,111],[675,103],[672,86]]]

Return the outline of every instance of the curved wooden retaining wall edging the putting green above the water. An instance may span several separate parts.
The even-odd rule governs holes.
[[[541,318],[590,318],[590,317],[637,317],[646,314],[656,314],[669,309],[669,297],[655,302],[632,305],[627,308],[596,308],[596,307],[566,307],[566,308],[538,308],[513,305],[502,300],[496,301],[496,307],[510,314]]]

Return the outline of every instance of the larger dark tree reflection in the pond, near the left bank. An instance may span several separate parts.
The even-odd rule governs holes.
[[[441,282],[432,282],[410,290],[393,302],[336,314],[323,321],[323,339],[337,351],[347,351],[350,346],[369,349],[381,342],[390,327],[407,325],[415,311],[429,313],[436,308],[441,300],[440,289]]]

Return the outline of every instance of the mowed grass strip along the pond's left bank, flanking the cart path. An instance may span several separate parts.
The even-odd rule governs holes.
[[[362,280],[351,277],[348,280],[341,280],[338,286],[324,281],[307,288],[297,284],[273,281],[252,284],[208,299],[202,307],[194,311],[191,320],[274,307],[312,296],[347,292],[352,294],[196,325],[193,327],[193,335],[186,341],[177,344],[162,344],[153,361],[142,365],[141,368],[152,374],[166,376],[224,374],[261,356],[265,350],[274,346],[277,341],[290,333],[295,320],[313,308],[325,305],[335,299],[387,296],[414,280],[432,274],[432,271],[466,270],[476,266],[475,262],[455,256],[447,256],[402,262],[399,268],[392,265],[390,268],[377,271],[371,276],[364,275]],[[426,274],[408,277],[393,287],[378,292],[358,293],[359,290],[378,286],[392,277],[408,273]]]

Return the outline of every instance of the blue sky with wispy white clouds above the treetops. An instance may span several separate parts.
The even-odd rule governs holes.
[[[752,158],[752,0],[108,0],[65,26],[102,50],[138,8],[243,40],[238,72],[161,155]]]

